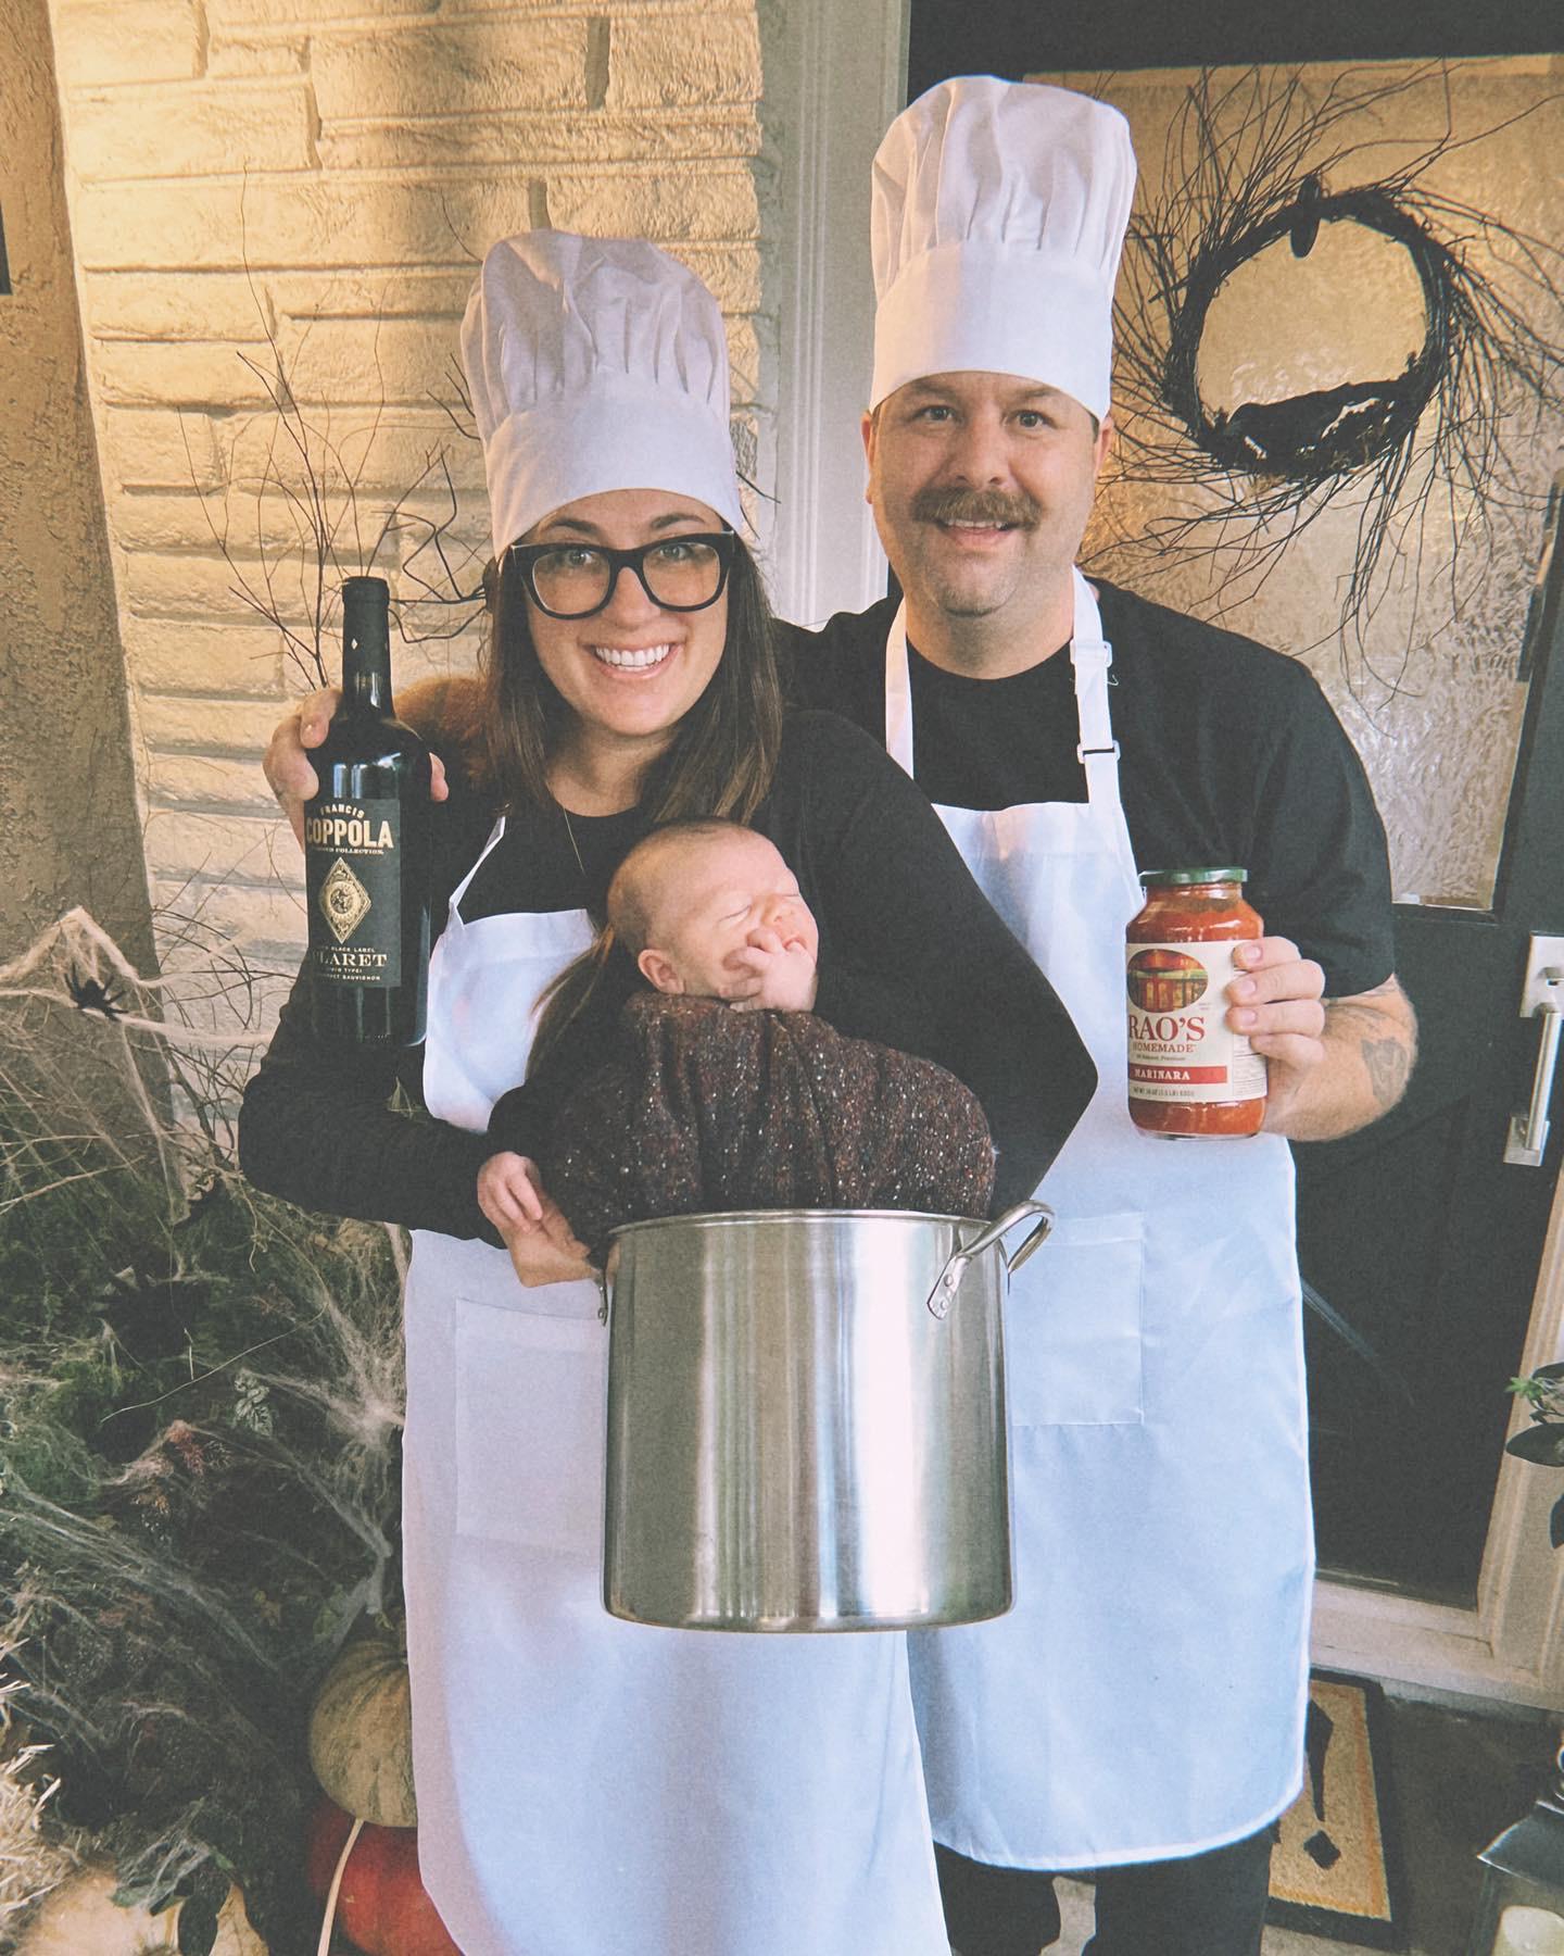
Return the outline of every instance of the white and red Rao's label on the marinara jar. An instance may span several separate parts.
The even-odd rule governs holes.
[[[1234,943],[1130,945],[1130,1093],[1144,1101],[1255,1099],[1265,1060],[1226,1025],[1226,988],[1239,974]]]

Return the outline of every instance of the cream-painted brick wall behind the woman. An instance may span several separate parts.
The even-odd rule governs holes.
[[[162,951],[178,958],[199,915],[258,968],[291,970],[301,863],[258,753],[307,681],[239,587],[270,577],[313,636],[297,442],[338,569],[364,567],[401,499],[373,567],[405,624],[469,616],[418,602],[420,569],[444,579],[430,552],[407,559],[450,516],[448,471],[446,554],[477,583],[457,325],[483,250],[551,223],[651,237],[706,278],[753,471],[768,448],[755,0],[51,0],[51,18]],[[330,632],[325,649],[334,671]],[[397,679],[473,649],[471,626],[399,645]]]

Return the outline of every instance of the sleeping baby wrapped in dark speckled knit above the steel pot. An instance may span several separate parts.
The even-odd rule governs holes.
[[[659,1215],[987,1213],[993,1144],[968,1088],[811,1011],[819,929],[764,835],[731,822],[655,829],[608,886],[608,931],[649,990],[630,998],[604,1066],[559,1107],[540,1158],[594,1264],[616,1226]],[[598,943],[561,978],[540,1037],[604,960]],[[526,1086],[495,1105],[499,1152],[479,1178],[506,1240],[532,1215],[516,1148],[526,1105]]]

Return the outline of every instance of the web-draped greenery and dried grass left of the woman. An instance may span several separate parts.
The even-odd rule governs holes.
[[[262,988],[86,911],[0,968],[0,1950],[84,1858],[313,1948],[305,1721],[393,1606],[401,1238],[237,1170]]]

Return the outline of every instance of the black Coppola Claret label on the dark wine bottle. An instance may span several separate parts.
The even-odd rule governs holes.
[[[401,806],[311,802],[305,812],[309,964],[326,984],[401,984]]]

